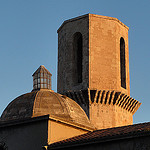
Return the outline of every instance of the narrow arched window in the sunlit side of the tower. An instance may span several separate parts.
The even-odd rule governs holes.
[[[125,41],[120,38],[120,75],[121,87],[126,89],[126,60],[125,60]]]

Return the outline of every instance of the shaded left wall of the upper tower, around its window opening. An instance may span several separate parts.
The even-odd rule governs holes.
[[[86,89],[89,85],[89,20],[88,15],[66,21],[58,30],[57,92]],[[82,83],[75,83],[73,70],[73,36],[80,32],[83,38]]]

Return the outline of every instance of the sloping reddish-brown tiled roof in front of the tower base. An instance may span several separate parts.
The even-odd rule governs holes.
[[[52,143],[49,145],[49,148],[55,148],[59,146],[66,147],[69,146],[70,144],[78,145],[78,144],[85,144],[89,142],[95,143],[98,142],[99,140],[101,140],[99,142],[105,142],[110,140],[117,140],[118,138],[137,137],[137,136],[142,136],[147,134],[150,134],[150,122],[122,126],[122,127],[114,127],[114,128],[108,128],[102,130],[95,130],[56,143]]]

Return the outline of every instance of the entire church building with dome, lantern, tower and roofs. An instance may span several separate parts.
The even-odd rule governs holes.
[[[33,90],[0,118],[0,150],[149,150],[150,122],[134,124],[141,102],[130,97],[129,28],[86,14],[58,33],[57,93],[41,65]]]

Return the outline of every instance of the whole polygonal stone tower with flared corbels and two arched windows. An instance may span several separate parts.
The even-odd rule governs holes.
[[[130,97],[128,30],[93,14],[58,29],[58,93],[79,103],[98,129],[132,124],[141,105]]]

